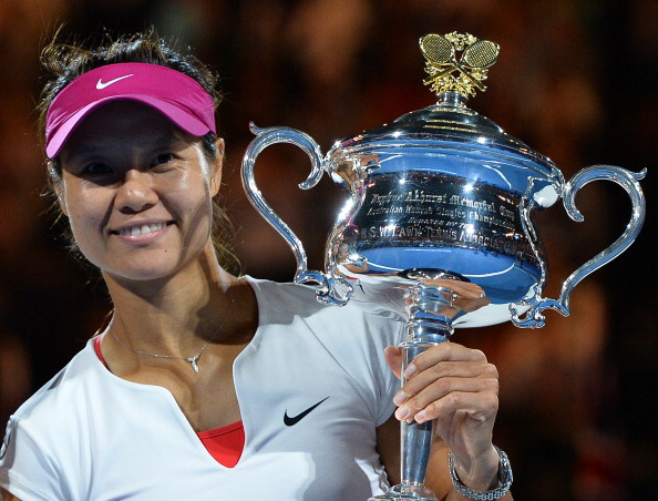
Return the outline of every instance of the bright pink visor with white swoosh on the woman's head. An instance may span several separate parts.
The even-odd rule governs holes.
[[[66,85],[45,116],[45,154],[54,159],[93,110],[116,100],[153,106],[192,135],[216,134],[215,103],[194,79],[160,64],[117,63],[91,70]]]

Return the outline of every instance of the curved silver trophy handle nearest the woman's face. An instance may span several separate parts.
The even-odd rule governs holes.
[[[290,227],[278,216],[278,214],[268,205],[263,197],[260,190],[256,185],[254,177],[254,165],[258,155],[267,146],[276,143],[289,143],[304,150],[311,161],[311,172],[304,183],[299,184],[301,190],[310,190],[316,186],[323,174],[323,160],[318,143],[308,134],[290,127],[257,127],[249,123],[249,130],[256,137],[249,143],[243,157],[243,186],[247,198],[258,213],[267,221],[290,245],[295,259],[297,260],[297,272],[295,273],[295,283],[297,284],[317,284],[320,287],[316,290],[318,299],[322,303],[333,305],[346,305],[350,298],[352,287],[341,276],[327,276],[322,272],[309,270],[307,266],[306,250],[301,241],[290,229]]]

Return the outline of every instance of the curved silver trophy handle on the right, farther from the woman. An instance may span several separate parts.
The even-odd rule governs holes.
[[[535,304],[525,314],[523,319],[520,318],[520,316],[516,314],[516,307],[513,306],[512,320],[517,327],[543,327],[545,319],[542,315],[542,311],[547,308],[555,309],[565,317],[568,316],[569,297],[574,290],[574,287],[576,287],[576,285],[578,285],[580,280],[583,280],[590,273],[597,270],[602,266],[616,258],[635,242],[642,227],[646,214],[645,195],[639,185],[639,181],[642,180],[646,174],[646,168],[644,168],[641,172],[635,173],[614,165],[593,165],[577,172],[574,177],[572,177],[572,180],[565,184],[563,202],[566,212],[572,219],[578,223],[584,221],[584,217],[576,207],[575,202],[576,194],[583,186],[593,181],[613,181],[621,186],[630,197],[630,202],[633,204],[630,222],[628,223],[628,226],[621,236],[619,236],[610,246],[598,253],[568,276],[568,278],[562,285],[558,299],[535,299]]]

